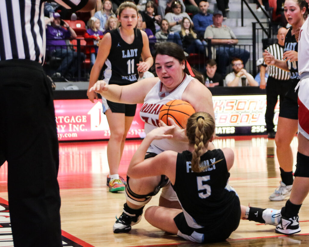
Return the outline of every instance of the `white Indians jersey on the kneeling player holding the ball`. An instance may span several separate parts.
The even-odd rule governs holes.
[[[173,99],[181,99],[184,90],[193,79],[194,78],[192,76],[186,74],[183,82],[181,82],[180,85],[171,92],[162,92],[162,83],[159,80],[148,92],[144,99],[144,104],[140,110],[140,117],[145,122],[146,134],[159,126],[159,112],[161,107]],[[158,154],[166,150],[172,150],[181,153],[187,149],[188,144],[184,144],[184,142],[163,139],[153,140],[147,152]]]

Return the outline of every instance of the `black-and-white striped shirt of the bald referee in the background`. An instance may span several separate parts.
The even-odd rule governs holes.
[[[266,48],[266,50],[268,52],[270,52],[275,59],[279,59],[282,60],[283,57],[283,48],[282,46],[280,46],[279,44],[272,44],[269,47]],[[263,61],[263,64],[266,66],[266,64]],[[288,80],[289,77],[289,72],[285,71],[283,69],[279,69],[278,67],[274,66],[274,65],[269,65],[269,76],[273,77],[276,80],[280,80],[280,81],[286,81]]]

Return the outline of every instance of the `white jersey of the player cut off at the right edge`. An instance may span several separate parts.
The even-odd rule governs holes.
[[[309,72],[309,18],[305,21],[299,31],[298,37],[298,74]]]

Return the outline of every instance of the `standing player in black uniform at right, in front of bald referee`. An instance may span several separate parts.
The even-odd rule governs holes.
[[[303,6],[300,6],[299,2]],[[280,104],[277,133],[275,136],[281,178],[285,180],[285,183],[280,182],[280,186],[269,196],[269,199],[272,201],[281,201],[285,197],[290,196],[293,185],[293,153],[290,144],[298,131],[298,89],[295,90],[295,86],[299,81],[298,43],[295,39],[295,34],[296,30],[305,22],[305,17],[307,17],[304,4],[307,5],[305,1],[300,0],[286,0],[284,2],[284,14],[292,27],[288,29],[286,34],[283,60],[275,59],[267,50],[263,52],[266,65],[275,65],[280,69],[288,71],[291,79],[289,90],[283,99],[282,105]]]

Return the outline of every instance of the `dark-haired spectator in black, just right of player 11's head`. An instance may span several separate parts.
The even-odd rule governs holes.
[[[148,1],[146,2],[144,19],[146,27],[149,28],[153,34],[160,30],[160,25],[162,17],[161,15],[156,15],[156,6],[155,2]]]

